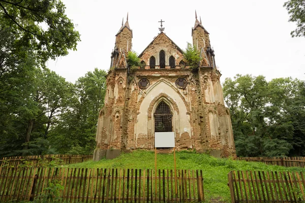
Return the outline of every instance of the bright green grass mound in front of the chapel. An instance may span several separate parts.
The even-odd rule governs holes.
[[[152,151],[133,151],[123,153],[115,159],[87,161],[70,164],[64,167],[86,168],[155,168],[155,153]],[[173,154],[158,154],[157,168],[173,169]],[[230,191],[227,186],[230,171],[302,171],[305,168],[266,165],[259,162],[237,161],[226,158],[215,158],[194,151],[176,152],[176,168],[202,170],[204,178],[204,196],[206,202],[230,202]]]

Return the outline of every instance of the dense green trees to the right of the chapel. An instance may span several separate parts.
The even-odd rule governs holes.
[[[223,87],[238,156],[305,155],[304,81],[236,75]]]

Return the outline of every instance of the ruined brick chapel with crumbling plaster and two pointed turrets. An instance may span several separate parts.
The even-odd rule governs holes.
[[[236,156],[208,31],[196,15],[192,38],[201,60],[192,67],[163,32],[162,22],[160,33],[138,56],[141,65],[132,69],[127,62],[133,37],[128,17],[115,35],[94,160],[107,150],[154,149],[155,132],[174,132],[176,150]]]

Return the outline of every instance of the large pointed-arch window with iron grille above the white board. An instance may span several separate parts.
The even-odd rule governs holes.
[[[155,113],[155,132],[172,131],[172,114],[170,108],[164,101],[158,105]]]

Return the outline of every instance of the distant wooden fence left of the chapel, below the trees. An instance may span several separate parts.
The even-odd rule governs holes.
[[[37,167],[44,166],[51,161],[57,164],[80,163],[83,161],[93,160],[93,155],[72,155],[72,154],[47,154],[38,156],[12,156],[0,159],[1,166],[24,166]]]

